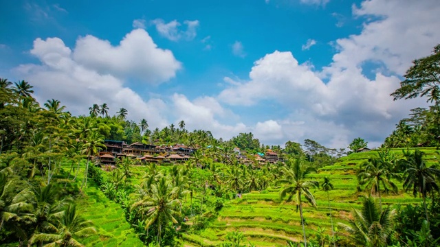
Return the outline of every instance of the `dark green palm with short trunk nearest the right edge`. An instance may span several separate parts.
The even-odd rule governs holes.
[[[404,170],[404,190],[412,190],[412,194],[416,197],[419,193],[423,198],[423,207],[425,207],[426,221],[428,220],[428,210],[426,209],[426,194],[430,191],[439,191],[436,178],[440,176],[440,169],[435,165],[428,167],[423,159],[423,152],[415,150],[415,152],[405,152],[405,158],[399,161],[399,165]]]

